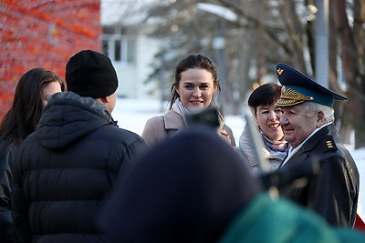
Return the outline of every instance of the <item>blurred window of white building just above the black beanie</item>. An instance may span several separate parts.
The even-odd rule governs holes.
[[[126,34],[120,27],[104,26],[102,35],[102,52],[117,64],[135,62],[135,35]]]

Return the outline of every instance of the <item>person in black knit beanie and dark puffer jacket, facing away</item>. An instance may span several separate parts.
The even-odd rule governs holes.
[[[110,115],[118,78],[108,56],[71,56],[66,82],[69,92],[48,100],[13,167],[13,218],[26,242],[106,242],[96,215],[146,147]]]

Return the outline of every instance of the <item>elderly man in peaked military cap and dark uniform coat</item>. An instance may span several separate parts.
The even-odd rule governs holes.
[[[282,108],[280,124],[291,145],[279,171],[316,162],[319,172],[306,184],[294,182],[279,188],[282,195],[311,208],[330,225],[352,228],[356,218],[360,177],[349,151],[334,126],[335,99],[346,97],[285,64],[276,66],[283,93],[276,106]],[[302,165],[300,165],[302,164]]]

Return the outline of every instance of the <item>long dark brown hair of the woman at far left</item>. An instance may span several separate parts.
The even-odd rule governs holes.
[[[9,144],[20,144],[36,130],[43,110],[42,91],[48,83],[54,81],[58,81],[61,90],[65,91],[65,81],[44,68],[31,69],[20,77],[13,105],[0,124],[0,140],[5,140],[5,147]]]

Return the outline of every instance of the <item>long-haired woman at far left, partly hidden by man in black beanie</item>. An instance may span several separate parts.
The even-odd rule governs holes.
[[[65,91],[65,81],[57,74],[40,67],[20,77],[13,105],[0,124],[0,239],[18,242],[12,223],[10,193],[13,183],[12,164],[20,144],[36,130],[49,96]]]

